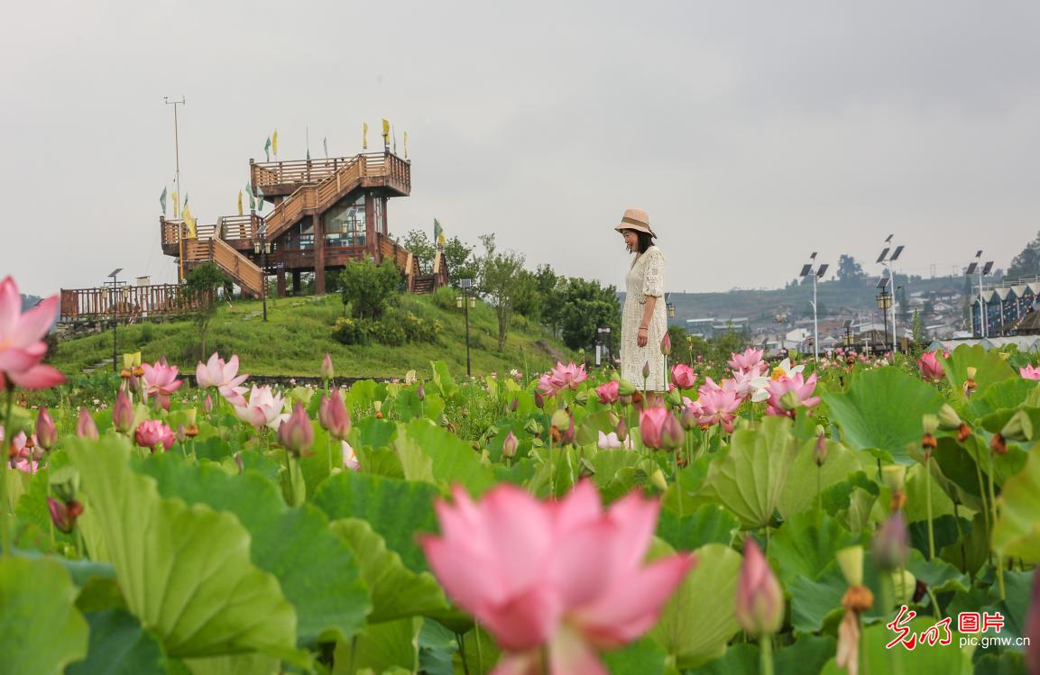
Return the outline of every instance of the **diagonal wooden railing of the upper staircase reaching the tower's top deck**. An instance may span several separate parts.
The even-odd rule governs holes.
[[[329,206],[357,187],[364,178],[387,178],[395,189],[411,191],[411,165],[396,155],[367,153],[348,160],[341,162],[339,168],[320,183],[301,186],[275,207],[264,219],[267,238],[275,239],[305,213]]]

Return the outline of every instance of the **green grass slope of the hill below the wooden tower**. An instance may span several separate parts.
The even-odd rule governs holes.
[[[229,358],[238,354],[241,372],[253,375],[317,376],[326,352],[332,355],[337,377],[400,377],[415,369],[420,375],[430,370],[430,361],[443,360],[452,373],[466,372],[465,323],[461,310],[444,310],[432,296],[401,295],[394,300],[402,310],[423,319],[439,319],[444,329],[436,343],[409,343],[388,347],[341,345],[332,339],[333,323],[342,316],[343,305],[336,295],[323,297],[270,298],[267,323],[261,317],[261,304],[239,300],[225,304],[210,324],[206,353],[200,351],[199,328],[190,320],[163,323],[121,325],[116,352],[141,351],[147,361],[165,356],[182,371],[213,351]],[[573,358],[562,343],[546,336],[539,326],[516,316],[513,330],[501,352],[497,349],[498,326],[492,307],[478,302],[470,309],[470,353],[473,375],[506,373],[527,367],[546,369],[554,356]],[[93,334],[58,344],[51,362],[67,375],[75,375],[99,361],[110,361],[112,333]]]

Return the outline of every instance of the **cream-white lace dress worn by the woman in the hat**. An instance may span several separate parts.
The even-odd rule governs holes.
[[[657,298],[653,316],[647,328],[647,346],[640,347],[636,334],[643,321],[646,296]],[[664,392],[668,388],[665,377],[665,356],[660,341],[668,330],[668,312],[665,307],[665,254],[651,246],[632,261],[625,276],[625,307],[621,313],[621,377],[643,388],[643,366],[650,363],[646,388]]]

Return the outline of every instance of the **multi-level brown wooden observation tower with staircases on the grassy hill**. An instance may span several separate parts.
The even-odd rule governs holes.
[[[286,295],[287,275],[294,294],[301,275],[314,273],[314,291],[326,292],[330,272],[349,261],[389,259],[405,277],[409,292],[430,293],[448,281],[440,251],[432,274],[420,274],[419,263],[389,236],[387,204],[412,191],[412,165],[389,150],[355,157],[283,162],[250,160],[254,194],[274,210],[224,216],[196,226],[194,236],[179,219],[159,218],[162,251],[183,256],[187,273],[214,263],[243,293],[260,297],[268,275],[278,278],[278,294]]]

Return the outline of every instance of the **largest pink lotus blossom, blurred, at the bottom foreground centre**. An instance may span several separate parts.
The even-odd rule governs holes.
[[[636,492],[605,513],[589,481],[560,502],[512,485],[477,503],[453,494],[436,504],[442,535],[419,543],[448,595],[505,650],[495,675],[540,673],[543,658],[546,675],[605,675],[596,652],[649,630],[694,564],[643,564],[660,504]]]

